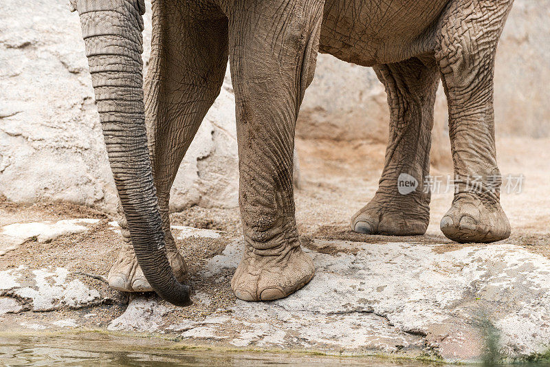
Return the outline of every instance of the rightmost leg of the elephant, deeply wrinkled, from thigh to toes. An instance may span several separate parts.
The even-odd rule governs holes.
[[[439,30],[436,58],[448,100],[455,188],[441,231],[457,242],[489,243],[510,234],[500,206],[493,76],[496,46],[512,2],[455,1]]]

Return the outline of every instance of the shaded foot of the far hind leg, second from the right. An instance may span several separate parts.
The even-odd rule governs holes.
[[[397,196],[399,195],[399,196]],[[375,194],[351,217],[351,230],[362,234],[417,236],[426,233],[430,223],[430,201],[419,203],[412,197]]]

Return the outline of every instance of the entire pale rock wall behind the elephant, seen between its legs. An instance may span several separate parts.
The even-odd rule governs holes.
[[[151,13],[148,12],[150,15]],[[498,51],[499,134],[550,135],[550,0],[516,0]],[[146,61],[151,22],[146,16]],[[104,152],[78,16],[67,1],[3,0],[0,12],[0,194],[65,200],[106,212],[116,194]],[[437,102],[432,162],[449,162],[446,107]],[[300,112],[307,139],[386,142],[388,107],[369,68],[320,55]],[[192,143],[172,191],[173,210],[237,205],[234,96],[229,78]]]

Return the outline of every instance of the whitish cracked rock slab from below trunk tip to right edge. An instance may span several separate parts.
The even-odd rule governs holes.
[[[208,231],[201,231],[205,236]],[[212,232],[212,236],[214,236]],[[135,298],[109,330],[179,333],[237,347],[310,348],[349,353],[435,353],[478,361],[487,333],[508,357],[543,353],[550,340],[550,260],[516,245],[438,245],[314,240],[316,276],[291,296],[243,302],[203,320],[170,316],[170,305]],[[215,277],[239,263],[240,238],[201,270]],[[197,293],[194,300],[209,304]],[[230,311],[230,313],[228,313]]]

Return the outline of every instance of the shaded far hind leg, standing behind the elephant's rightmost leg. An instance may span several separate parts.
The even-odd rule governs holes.
[[[424,234],[430,221],[431,131],[439,75],[426,56],[374,67],[386,87],[391,121],[386,162],[375,197],[351,218],[363,234]]]

